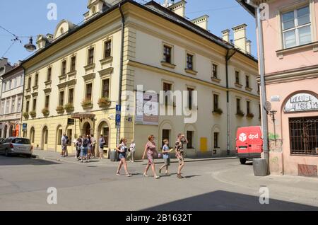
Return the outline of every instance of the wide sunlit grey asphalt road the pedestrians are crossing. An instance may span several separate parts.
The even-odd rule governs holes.
[[[126,178],[109,161],[0,156],[0,210],[318,210],[317,178],[254,177],[251,165],[223,159],[187,163],[182,180],[172,163],[172,175],[155,180],[143,177],[145,165],[129,163],[133,176]],[[263,186],[269,204],[259,203]],[[47,203],[50,187],[57,204]]]

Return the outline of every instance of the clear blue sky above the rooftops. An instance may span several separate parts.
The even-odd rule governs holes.
[[[156,0],[163,2],[163,0]],[[177,1],[177,0],[176,0]],[[57,4],[57,21],[47,20],[47,5]],[[37,34],[54,33],[55,26],[61,19],[73,23],[83,21],[83,13],[87,11],[87,0],[10,0],[0,1],[0,25],[20,36],[33,35],[34,42]],[[221,36],[220,31],[235,25],[246,23],[247,38],[252,40],[252,54],[257,55],[256,33],[254,18],[245,11],[235,0],[187,0],[187,17],[190,19],[208,14],[209,30]],[[12,35],[0,28],[0,57],[11,45]],[[232,39],[232,37],[231,37]],[[21,38],[22,44],[16,42],[4,57],[14,63],[30,55],[23,45],[28,38]]]

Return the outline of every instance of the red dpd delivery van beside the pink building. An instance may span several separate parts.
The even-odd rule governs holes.
[[[240,127],[237,129],[235,140],[237,156],[242,164],[253,158],[261,158],[263,152],[261,127]]]

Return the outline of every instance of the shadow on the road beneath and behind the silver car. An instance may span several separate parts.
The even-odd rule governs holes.
[[[26,158],[25,156],[0,156],[0,166],[23,166],[23,165],[32,165],[32,166],[47,166],[60,164],[53,161],[47,161],[43,159],[35,158]]]

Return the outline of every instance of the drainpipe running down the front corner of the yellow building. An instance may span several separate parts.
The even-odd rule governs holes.
[[[118,105],[122,105],[122,76],[124,68],[124,30],[125,30],[125,18],[124,13],[122,12],[122,3],[119,3],[119,12],[122,16],[122,45],[120,47],[120,64],[119,64],[119,94],[118,94]],[[122,115],[122,112],[120,112]],[[120,127],[117,128],[117,141],[116,145],[118,146],[120,139]]]

